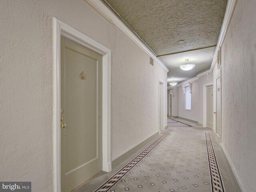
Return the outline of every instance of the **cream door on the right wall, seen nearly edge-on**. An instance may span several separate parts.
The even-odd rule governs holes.
[[[220,77],[216,79],[216,142],[221,142],[221,82]]]

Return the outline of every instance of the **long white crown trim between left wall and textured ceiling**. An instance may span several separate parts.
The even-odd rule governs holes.
[[[100,0],[85,0],[92,8],[94,8],[97,12],[99,12],[104,18],[106,18],[109,22],[115,24],[122,32],[124,32],[131,40],[133,40],[142,50],[144,50],[150,57],[154,59],[154,61],[161,66],[166,72],[169,71],[168,67],[155,56],[154,53],[144,45],[141,40],[130,30],[127,26],[120,21],[112,11],[110,11]]]

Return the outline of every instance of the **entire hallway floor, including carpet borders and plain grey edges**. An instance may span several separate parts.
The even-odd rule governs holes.
[[[168,118],[166,132],[111,172],[100,172],[74,191],[236,192],[213,133]]]

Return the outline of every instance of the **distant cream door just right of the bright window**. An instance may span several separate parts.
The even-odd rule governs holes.
[[[206,127],[213,128],[213,86],[206,87]]]

